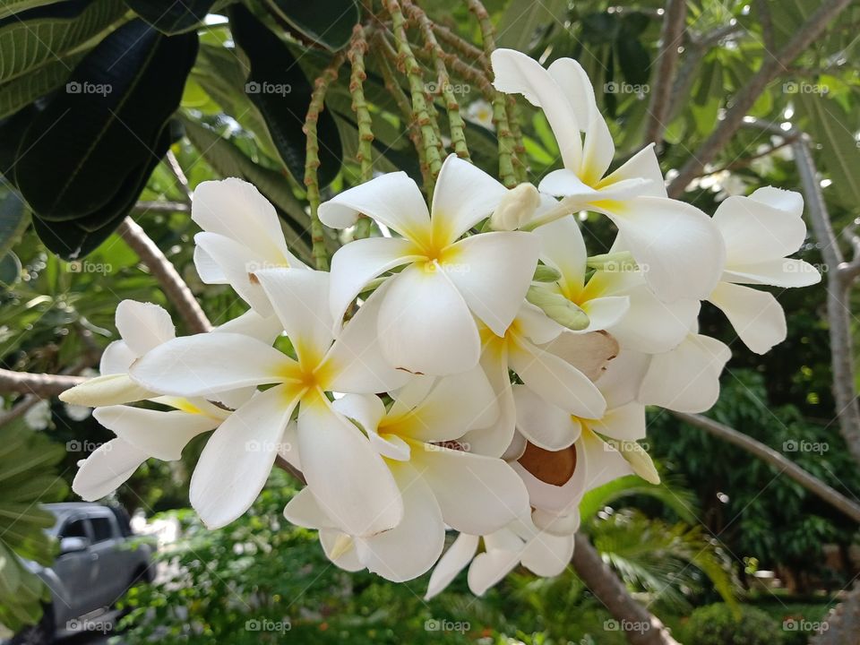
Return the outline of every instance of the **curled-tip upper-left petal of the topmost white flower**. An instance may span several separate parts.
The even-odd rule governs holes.
[[[581,126],[576,110],[564,90],[538,61],[513,49],[496,49],[493,64],[496,90],[522,94],[533,106],[543,109],[562,152],[565,168],[579,169],[582,159]]]

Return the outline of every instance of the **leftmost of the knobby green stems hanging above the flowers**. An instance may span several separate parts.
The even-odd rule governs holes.
[[[307,137],[305,144],[305,186],[307,186],[307,201],[311,206],[311,242],[313,243],[311,253],[314,256],[316,268],[320,271],[328,271],[329,254],[325,248],[325,232],[319,215],[320,182],[317,171],[320,168],[320,142],[316,133],[316,124],[320,119],[320,113],[325,108],[325,92],[329,89],[329,85],[337,80],[338,71],[343,61],[344,56],[342,54],[335,56],[331,64],[314,81],[314,91],[311,93],[305,125],[302,127]]]

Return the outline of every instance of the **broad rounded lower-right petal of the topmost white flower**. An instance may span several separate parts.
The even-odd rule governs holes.
[[[701,299],[717,285],[725,248],[714,222],[695,206],[638,197],[593,208],[615,222],[645,281],[661,300]]]

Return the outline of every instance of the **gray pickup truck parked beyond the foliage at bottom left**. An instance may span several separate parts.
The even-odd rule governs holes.
[[[56,515],[50,532],[60,545],[50,567],[28,563],[51,589],[42,621],[10,645],[47,645],[82,617],[113,606],[135,584],[152,581],[154,547],[133,536],[124,511],[94,503],[45,504]]]

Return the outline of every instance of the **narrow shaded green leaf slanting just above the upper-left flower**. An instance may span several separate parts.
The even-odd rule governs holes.
[[[310,219],[302,203],[293,194],[287,179],[274,170],[263,168],[248,159],[242,150],[204,125],[183,116],[185,134],[210,166],[221,176],[235,176],[254,184],[278,209],[292,219],[285,223],[288,245],[298,254],[310,258],[310,246],[303,238],[310,230]]]

